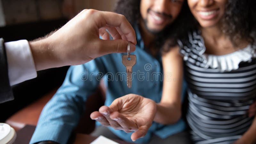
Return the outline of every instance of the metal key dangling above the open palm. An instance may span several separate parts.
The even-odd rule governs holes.
[[[136,64],[136,55],[130,55],[128,58],[127,55],[122,56],[122,63],[126,67],[126,75],[127,75],[127,87],[132,87],[132,67]]]

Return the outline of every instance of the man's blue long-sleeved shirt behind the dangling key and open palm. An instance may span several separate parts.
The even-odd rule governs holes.
[[[136,51],[131,54],[137,56],[137,63],[132,67],[132,88],[127,88],[125,67],[122,64],[122,55],[127,53],[108,54],[82,65],[71,66],[62,86],[45,105],[30,144],[44,140],[67,143],[84,111],[85,101],[98,87],[101,78],[107,86],[105,101],[107,106],[116,98],[129,93],[160,102],[164,76],[161,56],[153,57],[144,47],[139,29],[135,28],[135,32]],[[185,88],[186,85],[183,83],[182,97]],[[132,142],[132,133],[109,129],[121,139]],[[172,125],[153,122],[146,136],[136,140],[135,143],[147,143],[152,134],[164,139],[184,129],[185,123],[182,119]]]

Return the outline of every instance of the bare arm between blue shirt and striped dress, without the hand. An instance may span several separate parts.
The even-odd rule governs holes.
[[[173,47],[162,56],[164,84],[162,99],[157,103],[154,121],[161,124],[176,123],[181,117],[181,87],[183,82],[183,58],[179,47]]]

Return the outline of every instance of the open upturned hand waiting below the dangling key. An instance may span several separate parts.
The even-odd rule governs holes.
[[[156,103],[153,100],[136,94],[120,97],[99,111],[91,114],[91,118],[104,126],[132,133],[131,139],[135,141],[146,135],[156,114]]]

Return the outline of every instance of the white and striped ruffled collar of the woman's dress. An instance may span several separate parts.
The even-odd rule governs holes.
[[[196,58],[192,62],[200,67],[219,69],[221,72],[231,71],[238,69],[241,62],[251,62],[253,58],[256,58],[255,45],[250,44],[243,49],[225,55],[211,55],[204,53],[206,48],[200,31],[190,32],[188,40],[189,46],[183,45],[185,49],[186,47],[190,49],[189,54],[183,53],[184,60],[188,60],[188,57]],[[185,51],[188,52],[188,50]]]

